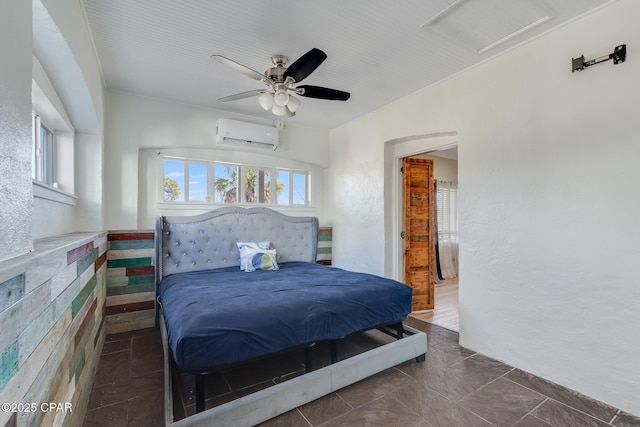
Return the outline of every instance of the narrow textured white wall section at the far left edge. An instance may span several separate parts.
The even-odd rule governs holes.
[[[30,251],[31,4],[2,3],[0,14],[0,260]]]

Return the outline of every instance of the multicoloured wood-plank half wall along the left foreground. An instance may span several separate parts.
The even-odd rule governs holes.
[[[0,426],[79,426],[105,337],[107,235],[51,237],[34,248],[0,262],[0,402],[36,406],[0,411]],[[43,411],[47,402],[71,410]]]

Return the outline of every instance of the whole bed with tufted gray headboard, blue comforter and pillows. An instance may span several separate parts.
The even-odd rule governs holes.
[[[359,331],[387,330],[403,345],[391,353],[380,352],[380,361],[367,362],[372,366],[355,377],[351,375],[352,382],[361,379],[358,376],[393,366],[387,366],[389,363],[414,357],[424,360],[426,337],[402,324],[411,311],[411,288],[379,276],[316,264],[317,244],[317,218],[292,217],[267,208],[230,207],[196,216],[157,218],[156,281],[169,388],[169,402],[165,403],[169,406],[168,423],[172,415],[167,371],[172,360],[196,376],[198,412],[204,409],[203,378],[207,373],[290,349],[310,349],[322,341],[331,343],[334,365],[330,370],[313,371],[312,353],[307,352],[308,373],[302,377],[344,377],[340,370],[348,369],[349,363],[337,361],[335,343]],[[253,250],[245,250],[243,245]],[[239,247],[251,260],[257,260],[255,265],[243,260],[245,271],[240,269]],[[273,388],[292,386],[292,394],[301,393],[312,400],[336,386],[348,385],[348,381],[343,381],[344,385],[332,381],[326,390],[320,390],[317,379],[310,378],[312,383],[296,380]],[[287,386],[290,382],[294,384]],[[305,387],[314,391],[303,392],[301,388]],[[269,393],[249,396],[246,402],[231,402],[182,422],[220,422],[224,417],[237,416],[239,410],[245,414],[260,412],[249,411],[247,405],[264,407],[264,399],[272,399]],[[271,393],[286,395],[284,390]],[[256,403],[260,399],[261,403]],[[296,400],[299,398],[275,407],[282,406],[284,411],[294,408],[289,407],[293,404],[306,403]],[[244,421],[251,425],[277,415],[273,408],[267,412]],[[234,425],[238,422],[233,420]]]

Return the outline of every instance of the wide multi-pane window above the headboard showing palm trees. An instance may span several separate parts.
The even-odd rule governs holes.
[[[309,173],[163,158],[163,201],[248,205],[309,204]]]

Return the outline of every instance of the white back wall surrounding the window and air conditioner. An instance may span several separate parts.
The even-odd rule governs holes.
[[[153,218],[166,214],[157,205],[158,191],[148,181],[160,176],[150,148],[158,151],[182,150],[181,155],[209,160],[238,161],[262,165],[267,158],[273,165],[293,167],[308,163],[316,169],[312,209],[291,214],[314,215],[322,219],[323,169],[329,164],[329,132],[302,126],[285,125],[276,151],[253,153],[245,150],[218,149],[214,145],[218,118],[234,118],[272,125],[273,122],[232,115],[185,104],[107,91],[105,145],[105,208],[107,229],[152,228]],[[206,153],[204,153],[206,151]],[[204,153],[204,154],[202,154]],[[265,164],[265,166],[271,166]],[[160,172],[161,173],[161,172]],[[197,209],[196,209],[197,211]],[[180,212],[178,214],[189,214]]]

